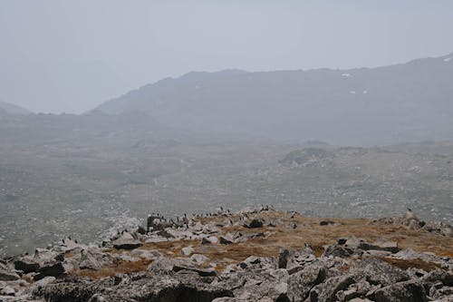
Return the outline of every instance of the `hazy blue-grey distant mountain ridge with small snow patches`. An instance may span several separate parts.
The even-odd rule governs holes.
[[[453,54],[378,68],[187,73],[101,104],[171,127],[338,144],[453,139]]]

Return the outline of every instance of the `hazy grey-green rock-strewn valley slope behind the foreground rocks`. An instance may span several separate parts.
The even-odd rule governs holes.
[[[0,255],[71,234],[89,242],[149,208],[274,204],[308,217],[410,207],[453,223],[453,143],[274,144],[175,132],[143,113],[0,117]]]

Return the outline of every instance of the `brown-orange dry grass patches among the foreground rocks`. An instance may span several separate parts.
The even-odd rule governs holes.
[[[253,215],[249,215],[252,217]],[[201,245],[200,240],[178,240],[165,241],[158,243],[146,243],[141,248],[157,249],[168,257],[181,257],[181,248],[189,245],[195,248],[194,253],[207,256],[208,262],[215,262],[217,270],[220,271],[230,263],[237,263],[249,256],[275,257],[279,248],[304,248],[305,244],[310,245],[316,257],[323,254],[323,246],[333,244],[342,237],[357,237],[373,242],[378,239],[393,240],[398,242],[400,248],[412,248],[419,252],[432,252],[439,256],[453,257],[453,238],[432,234],[425,231],[409,230],[401,226],[392,226],[381,222],[371,221],[370,219],[332,219],[337,224],[334,226],[320,226],[322,219],[304,218],[296,215],[294,219],[289,219],[286,213],[268,212],[260,213],[259,216],[266,221],[269,219],[279,219],[283,223],[277,227],[264,227],[257,229],[246,229],[242,226],[232,226],[221,229],[221,234],[227,232],[235,233],[240,231],[243,234],[264,232],[265,238],[249,239],[246,242],[233,243],[229,245],[207,244]],[[230,219],[238,221],[238,217],[230,216]],[[208,217],[201,220],[203,223],[213,221],[224,221],[225,217]],[[294,222],[296,229],[289,229],[286,225]],[[126,252],[126,251],[122,251]],[[400,268],[438,268],[433,263],[421,260],[394,260],[387,259],[387,262]],[[75,274],[91,278],[101,278],[112,276],[118,272],[132,272],[146,269],[148,263],[124,262],[111,268],[102,268],[101,271],[77,271]]]

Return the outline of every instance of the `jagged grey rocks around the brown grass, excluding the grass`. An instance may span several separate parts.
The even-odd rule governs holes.
[[[33,256],[3,258],[0,301],[453,301],[453,259],[401,249],[393,241],[346,236],[325,245],[321,253],[306,244],[280,248],[275,257],[249,255],[223,268],[214,263],[218,259],[196,253],[199,246],[265,239],[265,226],[284,223],[260,216],[269,211],[273,209],[262,207],[233,215],[221,209],[205,216],[206,220],[151,215],[146,228],[121,231],[100,245],[68,238],[59,246],[37,248]],[[405,223],[404,219],[388,221]],[[331,220],[322,222],[326,228],[335,228]],[[221,229],[226,226],[248,232],[225,234]],[[188,244],[173,256],[149,248],[172,241]],[[84,274],[120,268],[124,263],[144,267],[99,278]]]

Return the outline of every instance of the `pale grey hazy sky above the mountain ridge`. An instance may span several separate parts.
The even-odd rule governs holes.
[[[191,71],[404,63],[452,30],[451,0],[0,0],[0,101],[81,113]]]

